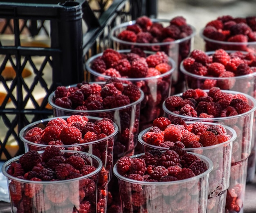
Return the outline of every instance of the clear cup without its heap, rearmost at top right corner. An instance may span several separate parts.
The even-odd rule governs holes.
[[[205,51],[213,51],[216,49],[225,49],[225,50],[238,50],[246,52],[256,52],[256,42],[228,42],[228,41],[219,41],[207,38],[203,35],[204,28],[200,31],[200,37],[204,40]]]

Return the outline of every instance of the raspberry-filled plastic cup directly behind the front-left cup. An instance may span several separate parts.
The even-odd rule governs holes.
[[[108,118],[71,115],[31,123],[20,130],[20,139],[26,152],[54,146],[59,150],[78,150],[99,157],[103,169],[99,173],[97,213],[101,213],[107,208],[117,133],[117,124]]]

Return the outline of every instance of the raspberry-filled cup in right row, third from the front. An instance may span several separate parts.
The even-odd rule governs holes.
[[[218,87],[210,90],[188,89],[182,94],[169,96],[163,103],[163,109],[172,123],[179,124],[181,119],[206,121],[220,123],[236,131],[226,211],[243,212],[256,100],[245,93],[220,90]]]

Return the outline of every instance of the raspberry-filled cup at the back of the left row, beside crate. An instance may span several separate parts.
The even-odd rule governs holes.
[[[110,31],[114,49],[137,47],[147,51],[163,51],[173,58],[176,64],[186,58],[193,49],[195,28],[183,16],[170,20],[153,19],[147,16],[121,23]],[[173,94],[183,92],[184,81],[178,71],[173,74]]]

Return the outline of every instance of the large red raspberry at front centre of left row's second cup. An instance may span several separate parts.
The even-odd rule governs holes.
[[[79,143],[82,133],[74,126],[65,126],[60,133],[60,139],[65,145]]]

